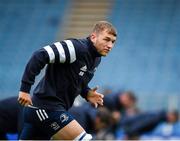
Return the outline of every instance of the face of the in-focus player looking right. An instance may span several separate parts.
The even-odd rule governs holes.
[[[114,46],[116,36],[109,34],[107,30],[100,33],[92,33],[91,41],[99,54],[106,56]]]

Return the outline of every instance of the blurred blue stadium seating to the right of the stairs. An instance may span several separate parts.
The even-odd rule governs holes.
[[[180,92],[180,1],[115,0],[109,20],[117,27],[114,50],[92,85],[141,95]],[[165,100],[167,102],[167,99]]]

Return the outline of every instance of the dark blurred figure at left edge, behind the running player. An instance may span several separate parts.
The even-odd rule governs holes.
[[[17,134],[21,129],[22,106],[17,96],[0,101],[0,140],[7,140],[7,133]]]

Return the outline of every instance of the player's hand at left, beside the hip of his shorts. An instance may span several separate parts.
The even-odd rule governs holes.
[[[19,92],[18,102],[22,106],[33,105],[30,94],[26,92]]]

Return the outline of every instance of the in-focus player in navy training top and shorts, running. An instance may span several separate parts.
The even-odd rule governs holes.
[[[92,138],[67,110],[79,94],[95,107],[103,105],[103,95],[97,88],[89,88],[88,83],[101,57],[114,47],[116,36],[111,23],[99,21],[87,38],[56,42],[33,53],[25,68],[18,98],[25,106],[21,140]],[[31,99],[31,86],[45,65],[46,73]]]

